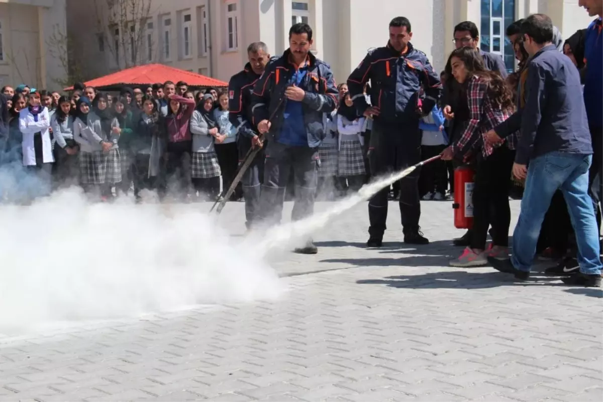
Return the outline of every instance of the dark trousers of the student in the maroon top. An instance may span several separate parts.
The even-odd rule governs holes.
[[[168,142],[165,154],[165,190],[177,196],[191,193],[192,141]]]

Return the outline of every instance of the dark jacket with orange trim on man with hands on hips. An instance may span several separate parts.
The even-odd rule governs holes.
[[[388,42],[387,46],[369,51],[360,65],[350,74],[347,86],[358,108],[364,113],[368,104],[362,92],[371,81],[371,104],[379,109],[375,120],[385,123],[417,124],[418,92],[425,88],[423,110],[431,110],[441,95],[440,77],[434,72],[425,53],[411,43],[399,52]]]

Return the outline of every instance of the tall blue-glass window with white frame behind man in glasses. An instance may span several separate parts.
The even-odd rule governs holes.
[[[505,30],[516,19],[515,5],[515,0],[481,0],[480,48],[500,54],[509,72],[515,66],[515,53]]]

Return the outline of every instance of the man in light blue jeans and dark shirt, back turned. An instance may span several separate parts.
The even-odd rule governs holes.
[[[522,22],[522,33],[531,62],[513,175],[526,179],[525,191],[513,233],[513,257],[488,261],[517,279],[529,278],[540,226],[553,194],[561,190],[572,218],[580,266],[578,273],[563,282],[599,287],[599,234],[588,191],[593,148],[579,72],[552,43],[551,18],[529,16]]]

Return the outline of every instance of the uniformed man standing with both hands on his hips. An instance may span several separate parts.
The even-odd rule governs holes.
[[[412,47],[411,23],[405,17],[390,22],[387,46],[370,51],[347,80],[347,86],[360,113],[373,118],[368,150],[372,177],[399,171],[421,161],[420,110],[431,112],[440,98],[440,77],[434,72],[425,53]],[[362,94],[370,80],[371,104]],[[418,108],[418,93],[425,89],[425,99]],[[417,169],[400,180],[400,214],[404,242],[428,244],[418,225],[421,206]],[[387,220],[388,188],[375,194],[368,203],[370,228],[368,247],[380,247]]]

